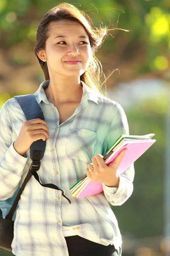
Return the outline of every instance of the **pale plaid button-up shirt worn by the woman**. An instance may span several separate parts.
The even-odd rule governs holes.
[[[40,186],[34,177],[26,184],[14,222],[12,251],[17,256],[68,256],[65,236],[78,235],[99,244],[122,245],[116,217],[109,206],[122,205],[133,192],[134,167],[120,177],[119,188],[85,198],[74,198],[69,188],[84,174],[91,158],[105,155],[122,134],[129,134],[122,107],[98,95],[82,82],[83,94],[72,116],[59,125],[59,113],[44,92],[49,80],[34,93],[49,128],[44,157],[38,171],[41,183],[54,183],[61,191]],[[0,200],[14,195],[31,165],[13,147],[26,118],[17,100],[9,99],[0,111]]]

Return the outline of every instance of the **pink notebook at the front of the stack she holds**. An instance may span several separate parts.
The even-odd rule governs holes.
[[[125,141],[121,148],[118,148],[117,152],[113,152],[110,157],[105,160],[108,165],[113,162],[117,155],[124,149],[129,148],[125,153],[122,162],[120,163],[118,173],[122,174],[132,163],[134,163],[148,148],[150,148],[156,140],[145,141]],[[90,195],[96,195],[103,191],[102,183],[96,183],[91,180],[84,186],[83,190],[77,194],[77,198],[82,198]]]

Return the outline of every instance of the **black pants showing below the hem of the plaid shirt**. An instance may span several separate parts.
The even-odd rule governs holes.
[[[69,256],[119,256],[113,245],[102,245],[80,236],[65,237]],[[14,254],[13,254],[14,256]]]

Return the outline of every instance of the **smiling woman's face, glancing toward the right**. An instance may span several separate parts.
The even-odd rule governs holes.
[[[81,76],[91,59],[91,45],[84,27],[77,21],[59,20],[50,23],[48,34],[45,57],[49,76]],[[66,62],[71,59],[74,62]]]

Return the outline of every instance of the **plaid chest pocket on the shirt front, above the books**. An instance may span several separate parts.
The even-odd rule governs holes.
[[[70,129],[66,140],[66,154],[70,159],[91,163],[96,145],[96,132],[86,129]]]

